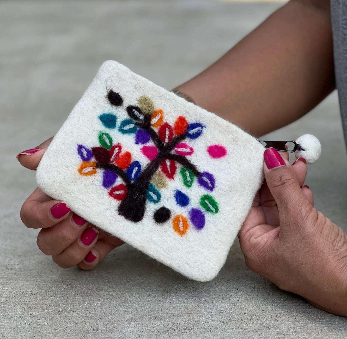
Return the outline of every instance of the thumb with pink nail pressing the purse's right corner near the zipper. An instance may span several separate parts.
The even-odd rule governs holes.
[[[273,148],[264,152],[264,174],[269,190],[276,201],[280,221],[283,217],[296,219],[309,203],[303,194],[293,168]]]

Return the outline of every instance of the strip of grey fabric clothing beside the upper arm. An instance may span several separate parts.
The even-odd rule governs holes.
[[[331,0],[336,88],[347,145],[347,1]]]

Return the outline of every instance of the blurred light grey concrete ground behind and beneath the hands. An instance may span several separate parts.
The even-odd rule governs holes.
[[[57,132],[108,59],[168,89],[226,52],[279,3],[0,2],[0,338],[346,338],[320,311],[249,271],[238,242],[211,282],[189,281],[124,245],[90,272],[60,269],[19,218],[34,172],[15,156]],[[337,94],[267,136],[316,135],[315,206],[347,231]]]

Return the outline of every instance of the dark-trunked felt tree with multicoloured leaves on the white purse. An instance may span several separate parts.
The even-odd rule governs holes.
[[[120,94],[113,91],[108,92],[107,99],[113,106],[122,107],[124,104]],[[100,146],[90,148],[77,145],[78,155],[83,161],[78,168],[79,174],[90,176],[103,170],[102,185],[109,190],[108,194],[112,198],[120,201],[120,215],[133,222],[141,221],[146,212],[147,201],[154,204],[161,201],[160,190],[167,187],[167,179],[175,180],[178,166],[180,180],[185,187],[191,188],[196,181],[206,191],[214,190],[213,174],[200,171],[187,158],[194,152],[188,143],[203,134],[203,124],[188,123],[184,116],[179,116],[172,127],[164,121],[163,111],[155,110],[152,100],[147,96],[141,96],[138,98],[138,105],[128,105],[125,110],[129,118],[120,122],[118,132],[134,134],[135,144],[143,145],[141,152],[150,161],[145,166],[133,160],[132,154],[125,151],[119,142],[114,144],[111,135],[104,131],[100,131],[98,135]],[[114,113],[102,113],[99,119],[107,129],[117,127],[118,118]],[[151,141],[150,145],[146,145]],[[208,153],[216,158],[215,147],[223,146],[209,147]],[[225,154],[226,150],[223,155]],[[178,206],[190,205],[188,195],[181,190],[175,190],[173,194]],[[174,230],[181,236],[189,228],[188,219],[196,229],[202,229],[205,226],[205,214],[217,213],[219,206],[210,194],[204,194],[200,198],[200,206],[188,207],[188,210],[187,217],[178,214],[172,219]],[[171,210],[162,206],[154,212],[153,218],[157,223],[166,222],[171,218]]]

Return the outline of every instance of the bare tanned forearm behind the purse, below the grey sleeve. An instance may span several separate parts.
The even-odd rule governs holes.
[[[303,116],[335,87],[329,2],[292,0],[178,86],[254,136]]]

